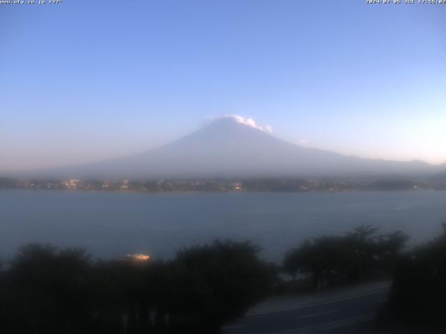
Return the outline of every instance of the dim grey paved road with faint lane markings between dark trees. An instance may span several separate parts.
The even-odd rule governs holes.
[[[387,299],[388,283],[339,294],[317,295],[302,303],[298,297],[264,303],[263,309],[222,328],[223,334],[310,334],[366,333],[372,327],[376,309]],[[309,301],[310,300],[310,301]],[[372,333],[372,332],[370,332]]]

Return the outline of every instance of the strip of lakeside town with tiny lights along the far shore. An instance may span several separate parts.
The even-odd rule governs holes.
[[[20,180],[0,177],[0,189],[49,189],[84,191],[228,192],[228,191],[367,191],[446,190],[446,179],[431,180],[305,180],[277,178],[249,179],[159,179],[159,180]]]

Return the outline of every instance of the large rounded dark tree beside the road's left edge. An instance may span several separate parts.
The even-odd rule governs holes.
[[[173,320],[184,321],[187,310],[187,321],[194,319],[191,333],[219,333],[221,324],[243,315],[272,286],[274,273],[258,259],[258,251],[249,242],[236,241],[180,250],[174,262]]]

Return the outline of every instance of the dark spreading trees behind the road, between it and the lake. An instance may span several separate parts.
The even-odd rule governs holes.
[[[408,236],[400,231],[377,231],[363,225],[344,236],[305,240],[286,253],[284,271],[311,276],[316,289],[390,276]]]

